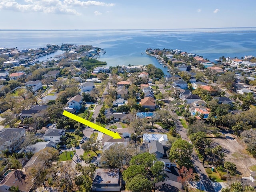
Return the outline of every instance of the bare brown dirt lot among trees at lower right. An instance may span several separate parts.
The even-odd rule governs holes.
[[[213,138],[212,142],[216,145],[221,145],[226,154],[226,161],[236,164],[237,170],[242,177],[249,177],[249,167],[256,165],[256,159],[248,155],[246,146],[235,138],[232,134],[224,134],[224,138]]]

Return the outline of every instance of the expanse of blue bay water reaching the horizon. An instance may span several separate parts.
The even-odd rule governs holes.
[[[256,55],[256,27],[145,30],[0,30],[0,47],[40,48],[47,44],[103,48],[107,66],[154,64],[168,74],[147,48],[178,49],[214,62],[222,56]]]

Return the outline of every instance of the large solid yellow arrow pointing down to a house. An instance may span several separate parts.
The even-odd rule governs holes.
[[[62,114],[64,116],[70,118],[70,119],[78,121],[78,122],[80,122],[80,123],[82,123],[84,125],[87,125],[87,126],[93,128],[93,129],[96,129],[96,130],[98,130],[98,131],[100,131],[100,132],[102,132],[102,133],[104,133],[106,135],[109,135],[109,136],[113,137],[113,139],[121,139],[121,136],[117,132],[112,132],[112,131],[110,131],[110,130],[102,127],[102,126],[98,126],[95,123],[92,123],[92,122],[90,122],[88,120],[85,120],[85,119],[83,119],[81,117],[78,117],[78,116],[76,116],[76,115],[74,115],[74,114],[72,114],[70,112],[67,112],[67,111],[64,110],[64,112]]]

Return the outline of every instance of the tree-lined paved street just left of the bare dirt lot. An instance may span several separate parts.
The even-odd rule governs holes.
[[[177,127],[177,133],[180,134],[182,140],[186,140],[189,141],[189,138],[187,136],[187,130],[182,126],[182,124],[180,123],[179,120],[177,120],[175,122],[176,127]],[[199,160],[195,149],[193,148],[193,154],[192,154],[192,162],[193,165],[196,169],[196,172],[199,174],[201,180],[202,180],[202,184],[204,185],[204,188],[206,189],[206,191],[208,192],[215,192],[214,187],[212,186],[212,182],[210,181],[210,179],[208,178],[206,171],[204,169],[204,166],[202,164],[202,162]]]

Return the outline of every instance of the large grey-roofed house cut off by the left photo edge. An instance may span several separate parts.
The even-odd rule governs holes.
[[[4,128],[0,131],[0,154],[4,150],[14,152],[22,144],[25,128]]]

